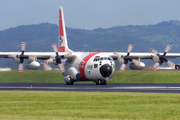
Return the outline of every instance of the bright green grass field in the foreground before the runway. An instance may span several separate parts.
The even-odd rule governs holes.
[[[180,118],[180,94],[0,91],[0,96],[0,120]]]

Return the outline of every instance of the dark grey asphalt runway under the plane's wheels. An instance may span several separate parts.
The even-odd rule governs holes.
[[[0,83],[0,90],[20,91],[82,91],[82,92],[150,92],[150,93],[180,93],[180,84],[155,83]]]

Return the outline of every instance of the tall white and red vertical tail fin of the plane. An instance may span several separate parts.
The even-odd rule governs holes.
[[[66,28],[64,22],[64,14],[62,6],[59,6],[59,37],[58,37],[58,51],[59,52],[71,52],[68,48]]]

